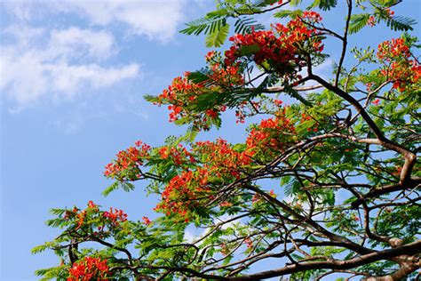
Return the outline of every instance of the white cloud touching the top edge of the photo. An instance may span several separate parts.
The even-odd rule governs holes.
[[[51,0],[7,1],[5,6],[16,19],[45,18],[48,14],[71,14],[91,26],[121,24],[129,33],[168,42],[184,22],[186,0]]]

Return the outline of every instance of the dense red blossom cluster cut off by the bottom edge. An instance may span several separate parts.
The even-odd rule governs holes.
[[[107,260],[90,256],[76,261],[68,269],[68,281],[108,280],[110,276]]]

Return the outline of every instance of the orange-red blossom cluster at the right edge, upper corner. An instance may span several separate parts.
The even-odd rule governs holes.
[[[377,58],[385,64],[381,76],[392,82],[393,89],[402,92],[419,83],[421,66],[411,59],[409,45],[403,38],[392,39],[378,45]]]

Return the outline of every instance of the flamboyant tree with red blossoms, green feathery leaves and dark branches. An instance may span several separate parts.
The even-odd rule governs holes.
[[[421,240],[420,140],[415,23],[397,0],[226,0],[186,34],[211,51],[147,100],[168,106],[187,135],[161,147],[142,141],[106,167],[104,191],[147,190],[157,218],[130,221],[89,202],[53,209],[60,266],[39,276],[68,280],[401,280],[417,276]],[[316,12],[317,11],[317,12]],[[323,17],[344,12],[334,27]],[[265,28],[253,16],[273,16]],[[281,23],[282,22],[282,23]],[[401,36],[351,48],[362,28]],[[330,44],[341,46],[333,53]],[[331,76],[317,66],[333,60]],[[283,96],[290,96],[280,99]],[[289,103],[288,105],[286,103]],[[195,141],[232,112],[250,121],[241,143]],[[252,122],[251,122],[252,121]],[[187,227],[202,229],[187,239]]]

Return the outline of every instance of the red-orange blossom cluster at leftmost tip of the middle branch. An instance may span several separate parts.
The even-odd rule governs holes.
[[[149,156],[150,149],[146,143],[136,141],[134,147],[117,153],[115,161],[106,165],[104,175],[118,180],[139,179],[138,165],[143,164],[143,159]]]

